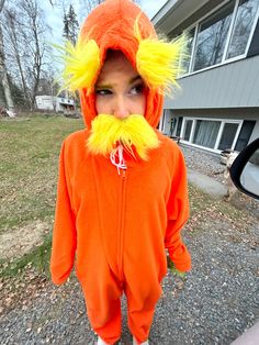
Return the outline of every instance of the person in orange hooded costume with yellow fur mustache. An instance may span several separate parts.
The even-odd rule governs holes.
[[[106,0],[65,48],[66,87],[80,92],[87,129],[63,144],[50,270],[54,283],[65,282],[76,256],[99,345],[120,340],[123,292],[133,344],[148,344],[165,248],[177,269],[191,268],[180,237],[189,216],[183,156],[155,130],[179,42],[159,41],[132,1]]]

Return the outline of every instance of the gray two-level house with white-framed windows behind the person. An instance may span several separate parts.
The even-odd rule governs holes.
[[[169,38],[188,33],[180,90],[160,131],[214,153],[259,137],[259,0],[169,0],[153,18]]]

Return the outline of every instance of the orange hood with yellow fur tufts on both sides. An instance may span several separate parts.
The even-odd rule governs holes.
[[[66,87],[79,90],[87,127],[97,115],[94,84],[109,48],[124,53],[146,82],[145,118],[156,127],[165,90],[169,82],[176,84],[172,58],[176,63],[180,45],[159,41],[149,19],[130,0],[106,0],[97,7],[86,19],[77,45],[67,45],[65,57]]]

